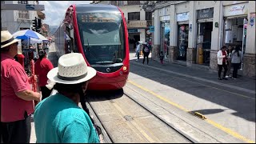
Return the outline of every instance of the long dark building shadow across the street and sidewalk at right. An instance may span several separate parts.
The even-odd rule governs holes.
[[[150,67],[142,65],[142,58],[139,59],[139,61],[137,62],[138,64],[133,64],[134,62],[137,62],[136,59],[130,59],[130,73],[138,74],[139,76],[144,78],[149,78],[154,82],[159,82],[162,85],[170,86],[174,89],[181,90],[187,94],[191,94],[195,97],[205,99],[208,102],[214,102],[218,105],[225,106],[227,109],[236,111],[237,113],[233,113],[235,116],[244,118],[251,122],[255,122],[255,94],[250,94],[241,90],[230,89],[222,86],[222,82],[226,82],[226,84],[229,84],[228,82],[230,82],[234,86],[253,85],[254,87],[255,82],[246,82],[246,78],[241,78],[238,80],[222,80],[222,82],[219,82],[219,85],[216,85],[214,83],[202,82],[194,78],[185,78],[178,74],[170,74],[162,70],[160,71],[152,69]],[[178,72],[179,67],[181,67],[175,66],[175,64],[164,64],[162,66],[160,62],[154,60],[150,60],[149,66],[154,66],[158,67],[159,69],[171,70],[176,72]],[[194,74],[194,71],[195,70],[186,67],[186,71],[180,70],[180,74],[193,75],[194,77],[205,78],[212,81],[214,81],[218,77],[218,73],[216,72],[198,70],[197,74]],[[218,82],[218,80],[216,80],[216,82]],[[223,110],[214,109],[199,111],[201,111],[202,114],[214,114],[221,113]]]

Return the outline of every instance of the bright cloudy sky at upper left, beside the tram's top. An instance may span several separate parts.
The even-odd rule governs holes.
[[[90,4],[92,1],[39,1],[39,5],[44,5],[46,14],[44,23],[50,26],[59,26],[62,22],[66,9],[72,4]]]

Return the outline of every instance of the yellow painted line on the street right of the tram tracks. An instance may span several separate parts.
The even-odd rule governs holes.
[[[166,99],[166,98],[162,98],[162,96],[160,96],[160,95],[158,95],[158,94],[155,94],[153,91],[147,90],[146,88],[144,88],[144,87],[142,87],[142,86],[139,86],[139,85],[138,85],[137,83],[135,83],[135,82],[132,82],[132,81],[130,81],[130,80],[128,80],[127,82],[133,84],[134,86],[139,87],[139,88],[142,89],[142,90],[145,90],[145,91],[149,92],[150,94],[153,94],[154,96],[156,96],[156,97],[162,99],[162,100],[165,101],[165,102],[170,103],[172,106],[176,106],[176,107],[178,107],[179,109],[184,110],[184,111],[189,112],[189,113],[190,113],[190,111],[191,111],[191,110],[187,110],[187,109],[184,108],[183,106],[178,105],[178,104],[175,103],[175,102],[171,102],[170,100],[168,100],[168,99]],[[214,121],[210,120],[209,118],[206,119],[206,122],[210,123],[211,125],[217,127],[217,128],[220,129],[220,130],[225,131],[227,134],[231,134],[231,135],[234,136],[235,138],[241,139],[241,140],[243,140],[243,141],[245,141],[245,142],[255,143],[254,141],[252,141],[252,140],[250,140],[250,139],[248,139],[248,138],[246,138],[246,137],[244,137],[244,136],[242,136],[242,135],[240,135],[240,134],[234,132],[233,130],[230,130],[230,129],[228,129],[228,128],[226,128],[226,127],[224,127],[224,126],[218,124],[217,122],[214,122]]]

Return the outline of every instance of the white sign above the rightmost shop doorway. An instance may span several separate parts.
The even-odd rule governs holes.
[[[224,6],[224,17],[242,14],[248,14],[247,3]]]

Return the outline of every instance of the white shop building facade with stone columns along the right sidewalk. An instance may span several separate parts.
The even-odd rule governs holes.
[[[239,74],[255,76],[254,1],[169,1],[154,6],[153,58],[217,70],[222,46],[243,52]]]

